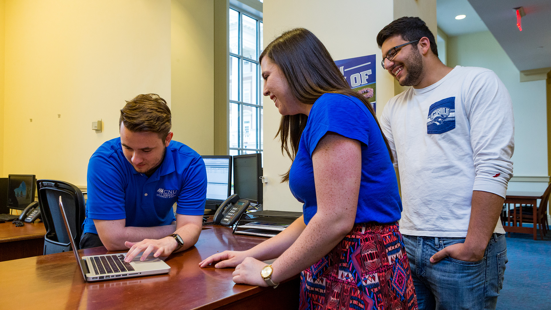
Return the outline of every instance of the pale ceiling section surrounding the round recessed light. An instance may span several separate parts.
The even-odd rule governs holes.
[[[461,14],[467,17],[455,19]],[[440,29],[451,36],[488,31],[467,0],[436,0],[436,21]]]

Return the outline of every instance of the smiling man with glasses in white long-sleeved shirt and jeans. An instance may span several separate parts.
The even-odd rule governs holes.
[[[381,127],[399,168],[404,235],[419,309],[495,309],[505,271],[499,219],[512,177],[514,120],[496,74],[445,66],[434,35],[403,17],[377,35],[400,85]]]

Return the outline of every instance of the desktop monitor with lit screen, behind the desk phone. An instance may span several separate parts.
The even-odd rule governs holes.
[[[231,156],[201,156],[207,168],[205,209],[216,210],[231,195]]]

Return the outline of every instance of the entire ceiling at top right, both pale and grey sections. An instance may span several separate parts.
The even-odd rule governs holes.
[[[460,14],[467,17],[455,19]],[[551,0],[436,0],[436,20],[450,36],[490,30],[519,71],[551,67]]]

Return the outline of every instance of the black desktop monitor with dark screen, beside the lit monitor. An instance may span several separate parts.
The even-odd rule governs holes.
[[[262,154],[234,156],[234,193],[262,204]]]

